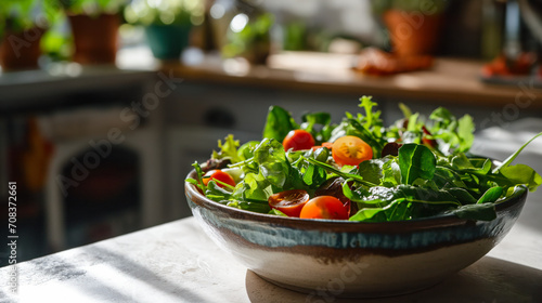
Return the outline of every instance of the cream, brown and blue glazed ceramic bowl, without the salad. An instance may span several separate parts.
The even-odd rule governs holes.
[[[360,223],[244,211],[190,183],[185,194],[210,238],[263,279],[310,295],[358,298],[413,292],[467,267],[508,233],[527,198],[522,190],[499,203],[489,222],[442,215]]]

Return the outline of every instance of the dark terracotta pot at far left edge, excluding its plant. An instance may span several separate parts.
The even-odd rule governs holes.
[[[39,27],[22,32],[5,31],[0,42],[0,64],[3,70],[37,68],[43,31]]]

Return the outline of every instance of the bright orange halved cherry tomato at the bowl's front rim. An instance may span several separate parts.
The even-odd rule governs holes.
[[[348,211],[339,199],[333,196],[319,196],[305,205],[299,218],[348,220]]]

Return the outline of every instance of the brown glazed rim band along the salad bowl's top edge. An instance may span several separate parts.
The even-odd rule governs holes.
[[[188,177],[195,179],[195,171],[192,170]],[[520,185],[520,189],[514,193],[511,197],[495,203],[495,210],[498,213],[498,216],[500,213],[505,212],[506,209],[520,205],[521,202],[525,201],[527,197],[527,187],[525,185]],[[337,226],[344,226],[344,225],[356,225],[356,226],[388,226],[390,227],[391,225],[396,226],[425,226],[425,227],[431,227],[431,226],[448,226],[448,225],[462,225],[465,224],[467,221],[472,220],[466,220],[466,219],[460,219],[455,214],[449,213],[449,214],[442,214],[442,215],[437,215],[437,216],[428,216],[428,218],[421,218],[421,219],[413,219],[413,220],[406,220],[406,221],[393,221],[393,222],[354,222],[354,221],[348,221],[348,220],[327,220],[327,219],[300,219],[300,218],[289,218],[289,216],[280,216],[280,215],[273,215],[273,214],[267,214],[267,213],[258,213],[254,211],[248,211],[248,210],[242,210],[233,207],[229,207],[219,202],[216,202],[211,199],[208,199],[205,197],[197,187],[189,182],[184,182],[184,188],[185,188],[185,195],[189,200],[192,202],[199,205],[202,207],[206,208],[211,208],[211,209],[218,209],[224,214],[229,214],[231,216],[235,218],[243,218],[246,220],[251,220],[251,221],[267,221],[267,222],[272,222],[276,224],[300,224],[301,225],[311,225],[313,223],[317,223],[319,226],[322,225],[337,225]]]

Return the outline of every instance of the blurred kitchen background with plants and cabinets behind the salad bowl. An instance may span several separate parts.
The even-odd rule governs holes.
[[[2,0],[0,218],[16,182],[17,261],[191,215],[191,163],[229,133],[259,140],[270,105],[338,122],[370,94],[386,123],[399,102],[446,106],[475,117],[482,153],[495,129],[540,130],[537,3]]]

